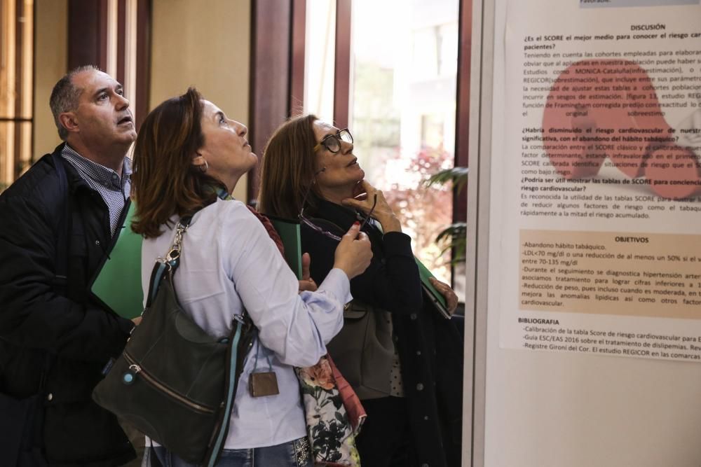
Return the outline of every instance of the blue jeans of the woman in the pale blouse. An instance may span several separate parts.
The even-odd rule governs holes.
[[[196,467],[161,446],[146,448],[142,466],[154,466],[151,456],[155,456],[163,467]],[[224,449],[217,467],[313,467],[312,460],[309,441],[299,438],[275,446]]]

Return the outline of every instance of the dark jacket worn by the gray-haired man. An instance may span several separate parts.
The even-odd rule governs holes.
[[[61,223],[66,194],[50,155],[0,195],[0,392],[32,396],[46,352],[55,353],[43,397],[46,459],[51,466],[117,466],[133,459],[133,449],[114,415],[90,395],[105,363],[121,353],[132,323],[89,298],[90,280],[111,242],[109,210],[61,160],[68,224]],[[70,229],[63,289],[55,286],[60,225]],[[0,465],[2,459],[0,452]]]

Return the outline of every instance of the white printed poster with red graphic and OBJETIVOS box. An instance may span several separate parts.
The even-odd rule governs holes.
[[[501,347],[701,362],[699,1],[512,0],[496,15]]]

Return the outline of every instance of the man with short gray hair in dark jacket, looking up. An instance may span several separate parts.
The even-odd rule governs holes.
[[[118,466],[134,450],[91,393],[135,323],[89,286],[123,224],[135,122],[95,67],[50,106],[64,142],[0,195],[0,465]]]

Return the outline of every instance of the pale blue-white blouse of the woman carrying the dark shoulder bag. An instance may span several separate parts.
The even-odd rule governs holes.
[[[163,228],[163,235],[142,246],[144,296],[156,258],[168,253],[175,235],[172,225]],[[232,316],[245,308],[261,344],[270,349],[280,389],[277,396],[250,396],[254,343],[238,382],[225,449],[273,446],[306,435],[292,366],[314,365],[326,354],[325,344],[341,330],[343,305],[352,297],[348,277],[339,269],[316,292],[298,293],[298,287],[268,232],[242,202],[217,200],[195,214],[175,273],[178,300],[207,333],[222,337],[229,335]],[[262,346],[257,371],[268,371]]]

